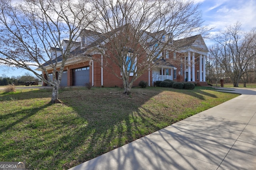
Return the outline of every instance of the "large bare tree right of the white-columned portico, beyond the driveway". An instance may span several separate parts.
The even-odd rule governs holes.
[[[225,75],[231,78],[234,87],[238,87],[239,80],[248,70],[256,56],[256,29],[249,32],[241,30],[241,23],[226,27],[212,38],[216,42],[215,51],[218,51],[215,59],[222,64]],[[213,53],[212,53],[213,54]]]

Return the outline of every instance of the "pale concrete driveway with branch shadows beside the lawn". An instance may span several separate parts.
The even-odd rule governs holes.
[[[256,89],[232,90],[242,95],[70,170],[256,169]]]

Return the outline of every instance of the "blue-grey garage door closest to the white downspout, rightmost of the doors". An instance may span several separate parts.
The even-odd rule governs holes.
[[[90,70],[89,66],[83,68],[73,69],[73,86],[85,86],[90,82]]]

